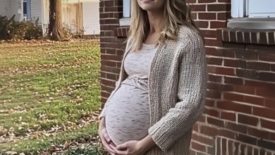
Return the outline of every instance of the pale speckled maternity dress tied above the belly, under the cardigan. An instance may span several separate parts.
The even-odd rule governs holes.
[[[129,75],[109,100],[106,130],[114,144],[142,140],[149,129],[149,68],[156,48],[142,44],[138,52],[126,56],[124,69]]]

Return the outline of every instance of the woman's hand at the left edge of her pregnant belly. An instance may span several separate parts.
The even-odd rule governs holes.
[[[116,154],[116,151],[110,147],[114,143],[111,142],[111,138],[106,131],[105,118],[102,118],[100,120],[98,134],[100,139],[102,140],[102,145],[105,147],[105,149],[109,151],[110,154]]]

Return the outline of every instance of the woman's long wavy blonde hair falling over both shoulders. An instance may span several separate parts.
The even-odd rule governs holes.
[[[140,49],[142,42],[145,42],[150,27],[147,11],[140,8],[137,0],[131,2],[130,30],[126,42],[129,41],[129,50],[136,51]],[[191,19],[190,6],[185,0],[165,0],[164,3],[164,20],[157,44],[163,43],[165,39],[178,39],[179,25],[188,26],[200,34]]]

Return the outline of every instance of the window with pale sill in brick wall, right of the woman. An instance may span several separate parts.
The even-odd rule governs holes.
[[[232,0],[228,27],[247,29],[275,28],[274,0]]]

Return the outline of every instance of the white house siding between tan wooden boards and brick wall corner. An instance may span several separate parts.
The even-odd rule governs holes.
[[[99,0],[82,0],[84,35],[100,33]]]

